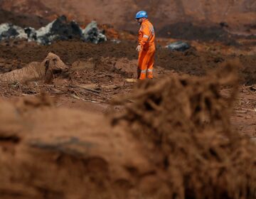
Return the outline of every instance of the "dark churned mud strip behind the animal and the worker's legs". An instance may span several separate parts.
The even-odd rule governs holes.
[[[250,40],[248,41],[250,42]],[[253,40],[252,40],[253,42]],[[161,41],[159,41],[159,44]],[[93,63],[97,63],[101,58],[110,58],[110,60],[119,60],[126,58],[128,60],[136,60],[137,53],[136,41],[122,41],[121,43],[101,43],[94,45],[90,43],[82,43],[80,41],[60,41],[53,45],[43,46],[23,41],[7,41],[0,45],[0,72],[8,72],[16,68],[22,68],[27,63],[32,61],[41,61],[46,58],[49,52],[53,52],[62,58],[67,65],[72,65],[77,60],[93,59]],[[207,46],[207,45],[206,45]],[[222,45],[208,44],[208,48],[215,48]],[[253,46],[253,43],[252,45]],[[244,49],[248,45],[241,45],[238,49]],[[250,50],[250,48],[249,48]],[[241,78],[245,85],[256,83],[255,76],[255,54],[247,55],[242,52],[225,53],[228,50],[196,50],[192,47],[185,52],[171,52],[164,48],[163,45],[158,45],[156,51],[156,67],[160,66],[166,70],[175,70],[188,75],[206,75],[206,70],[218,67],[225,60],[238,58],[242,63]],[[110,64],[111,65],[111,64]]]

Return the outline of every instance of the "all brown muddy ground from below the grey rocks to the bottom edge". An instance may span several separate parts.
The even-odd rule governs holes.
[[[256,56],[164,42],[144,83],[135,41],[2,42],[1,73],[49,52],[69,67],[0,83],[3,198],[254,198]]]

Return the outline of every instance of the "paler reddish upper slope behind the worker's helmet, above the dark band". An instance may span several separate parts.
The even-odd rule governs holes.
[[[238,29],[255,23],[256,2],[253,0],[41,0],[58,13],[69,13],[78,18],[95,18],[100,23],[112,23],[117,28],[134,30],[134,13],[149,11],[156,28],[178,21],[225,21]],[[61,5],[61,6],[60,6]],[[250,26],[250,25],[249,25]],[[253,29],[253,27],[252,27]],[[253,30],[252,30],[253,31]]]

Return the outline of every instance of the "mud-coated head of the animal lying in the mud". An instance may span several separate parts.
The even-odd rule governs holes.
[[[48,53],[45,60],[43,60],[43,65],[46,70],[46,82],[49,83],[53,80],[54,75],[60,74],[61,72],[67,72],[68,66],[63,63],[62,60],[53,53]]]

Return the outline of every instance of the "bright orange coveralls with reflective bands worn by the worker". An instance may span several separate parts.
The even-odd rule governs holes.
[[[138,63],[139,80],[144,80],[146,77],[153,78],[154,54],[156,51],[154,39],[154,27],[148,19],[145,19],[139,29],[139,45],[142,46]]]

